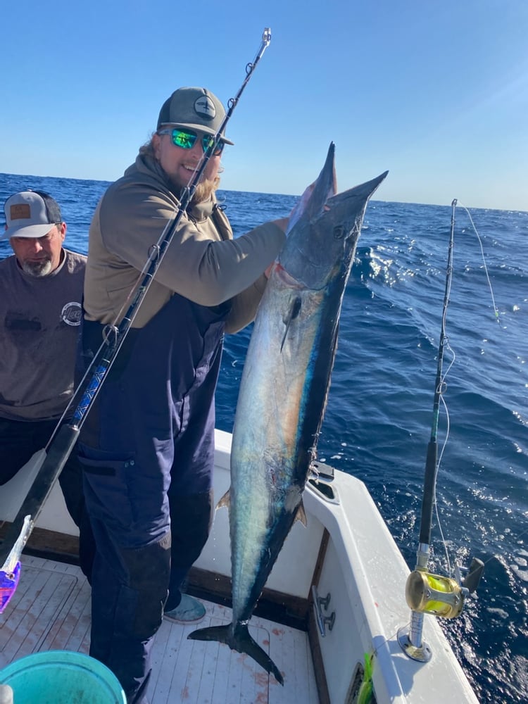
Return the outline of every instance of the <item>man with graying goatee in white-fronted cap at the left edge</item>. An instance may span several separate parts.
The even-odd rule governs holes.
[[[15,193],[4,215],[14,254],[0,262],[0,485],[46,447],[72,398],[86,265],[64,249],[66,223],[49,194]],[[80,525],[75,451],[59,482]]]

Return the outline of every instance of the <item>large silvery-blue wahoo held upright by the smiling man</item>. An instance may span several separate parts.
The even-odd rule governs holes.
[[[334,144],[291,213],[244,364],[231,453],[233,620],[189,638],[227,643],[283,684],[248,622],[296,518],[315,459],[337,346],[339,313],[367,201],[384,180],[335,195]]]

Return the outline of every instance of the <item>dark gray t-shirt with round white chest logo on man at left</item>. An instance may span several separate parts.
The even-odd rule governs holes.
[[[86,257],[63,250],[44,277],[0,261],[0,417],[61,417],[73,394]]]

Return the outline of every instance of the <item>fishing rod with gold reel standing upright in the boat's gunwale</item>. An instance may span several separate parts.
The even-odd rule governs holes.
[[[432,652],[427,643],[422,639],[424,614],[429,613],[444,618],[455,618],[464,608],[467,596],[477,590],[484,563],[473,558],[465,579],[460,577],[460,567],[455,566],[455,579],[444,577],[441,574],[428,572],[429,551],[433,520],[433,508],[436,501],[436,477],[438,475],[438,423],[439,408],[442,394],[446,389],[445,376],[442,372],[444,363],[444,349],[448,346],[446,335],[447,310],[449,294],[453,279],[453,247],[455,241],[455,208],[457,201],[451,203],[451,233],[448,245],[448,261],[446,270],[446,287],[444,291],[444,306],[440,329],[438,348],[438,363],[436,366],[436,379],[433,399],[433,419],[431,436],[427,445],[425,459],[424,491],[422,497],[422,514],[420,517],[420,535],[416,553],[416,566],[410,573],[406,584],[406,601],[411,610],[410,626],[398,630],[398,643],[403,651],[413,660],[428,662]]]

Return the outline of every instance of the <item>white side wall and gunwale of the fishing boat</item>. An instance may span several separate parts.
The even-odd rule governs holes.
[[[217,501],[230,485],[230,446],[231,435],[217,431],[214,479]],[[28,481],[23,470],[2,488],[0,519],[12,520]],[[279,599],[284,595],[285,601],[298,603],[301,611],[307,610],[308,639],[320,702],[353,703],[367,653],[374,655],[372,681],[377,704],[477,703],[434,618],[426,617],[424,626],[424,638],[433,654],[430,662],[410,660],[398,645],[397,631],[410,620],[404,597],[409,569],[365,484],[336,471],[332,482],[325,486],[330,487],[333,498],[308,484],[303,497],[308,525],[304,527],[297,522],[291,529],[266,585],[266,596],[268,590]],[[37,527],[70,536],[77,534],[58,485],[46,501]],[[217,510],[208,543],[195,568],[192,584],[200,574],[212,575],[212,579],[220,582],[223,579],[228,584],[231,564],[227,510]],[[329,622],[326,624],[325,636],[320,634],[314,616],[314,584],[320,597],[330,595],[327,608],[322,608],[322,617],[329,619],[332,613],[335,615],[332,629]],[[10,607],[11,604],[0,620],[9,617]],[[201,643],[200,648],[204,657],[213,657],[213,653],[222,653],[223,657],[223,650],[230,652],[227,646],[215,643]],[[302,667],[306,671],[306,665]],[[268,680],[264,671],[262,677]],[[288,672],[285,680],[287,677]],[[267,691],[275,689],[269,686]],[[154,696],[153,704],[169,700]]]

